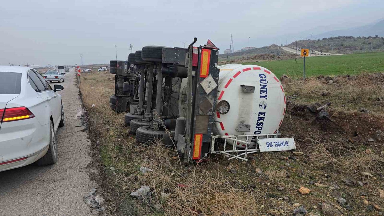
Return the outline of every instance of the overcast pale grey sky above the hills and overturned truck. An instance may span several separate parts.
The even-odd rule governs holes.
[[[280,43],[281,35],[307,37],[321,31],[382,19],[382,0],[39,0],[3,1],[0,64],[74,65],[126,60],[145,45],[203,45],[221,52]],[[306,34],[305,30],[311,29]],[[187,43],[186,43],[187,44]]]

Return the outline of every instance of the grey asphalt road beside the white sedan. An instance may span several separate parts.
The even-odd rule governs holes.
[[[0,172],[0,216],[94,215],[84,196],[96,187],[89,179],[91,142],[80,116],[84,111],[74,70],[60,83],[65,126],[56,132],[58,161],[52,166],[30,164]],[[53,87],[54,84],[51,83]]]

